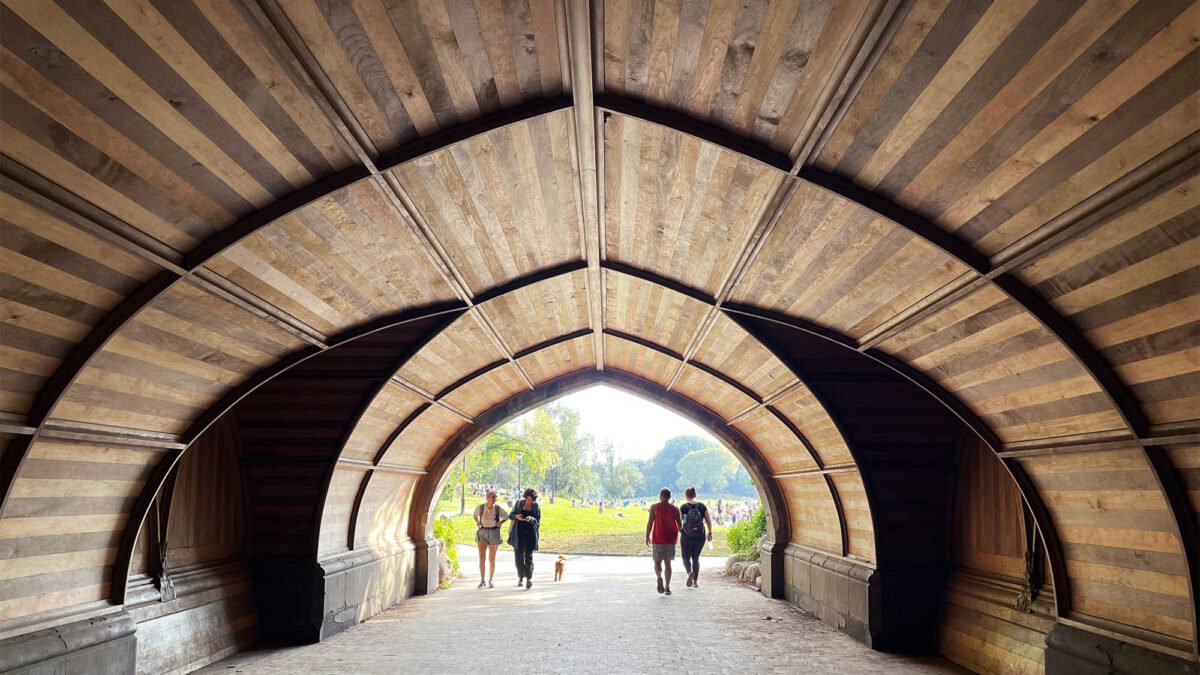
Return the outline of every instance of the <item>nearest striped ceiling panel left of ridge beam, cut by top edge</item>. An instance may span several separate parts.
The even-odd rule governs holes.
[[[378,151],[563,92],[546,2],[280,2]]]

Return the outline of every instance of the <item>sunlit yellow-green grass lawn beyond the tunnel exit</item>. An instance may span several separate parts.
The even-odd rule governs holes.
[[[438,513],[454,514],[455,538],[460,544],[475,542],[475,524],[470,514],[479,502],[468,502],[467,513],[458,515],[458,500],[438,502]],[[539,502],[541,503],[541,502]],[[646,502],[649,504],[649,502]],[[623,513],[625,518],[618,518]],[[649,556],[646,546],[646,519],[649,518],[640,502],[630,503],[629,508],[604,509],[596,513],[596,507],[571,508],[570,500],[558,500],[557,503],[541,503],[541,540],[540,552],[557,554],[610,554]],[[713,531],[713,550],[704,546],[706,556],[728,556],[725,540],[728,527],[716,527]],[[502,533],[508,538],[508,525]],[[500,544],[510,549],[508,544]]]

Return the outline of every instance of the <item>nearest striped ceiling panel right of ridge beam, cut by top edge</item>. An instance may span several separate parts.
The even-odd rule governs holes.
[[[606,7],[604,90],[788,153],[865,1]]]

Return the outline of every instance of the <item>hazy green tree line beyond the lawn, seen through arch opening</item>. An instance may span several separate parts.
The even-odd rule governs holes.
[[[580,432],[580,412],[551,404],[476,441],[467,452],[467,480],[505,488],[540,486],[566,497],[629,498],[656,496],[659,489],[755,496],[745,468],[725,448],[698,436],[676,436],[648,460],[619,460],[611,442],[598,447]],[[448,479],[458,486],[458,470]],[[505,495],[508,497],[508,495]]]

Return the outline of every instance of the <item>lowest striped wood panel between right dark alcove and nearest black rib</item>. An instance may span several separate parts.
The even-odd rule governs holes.
[[[1138,448],[1019,460],[1063,545],[1070,607],[1186,640],[1193,607],[1178,526]]]

